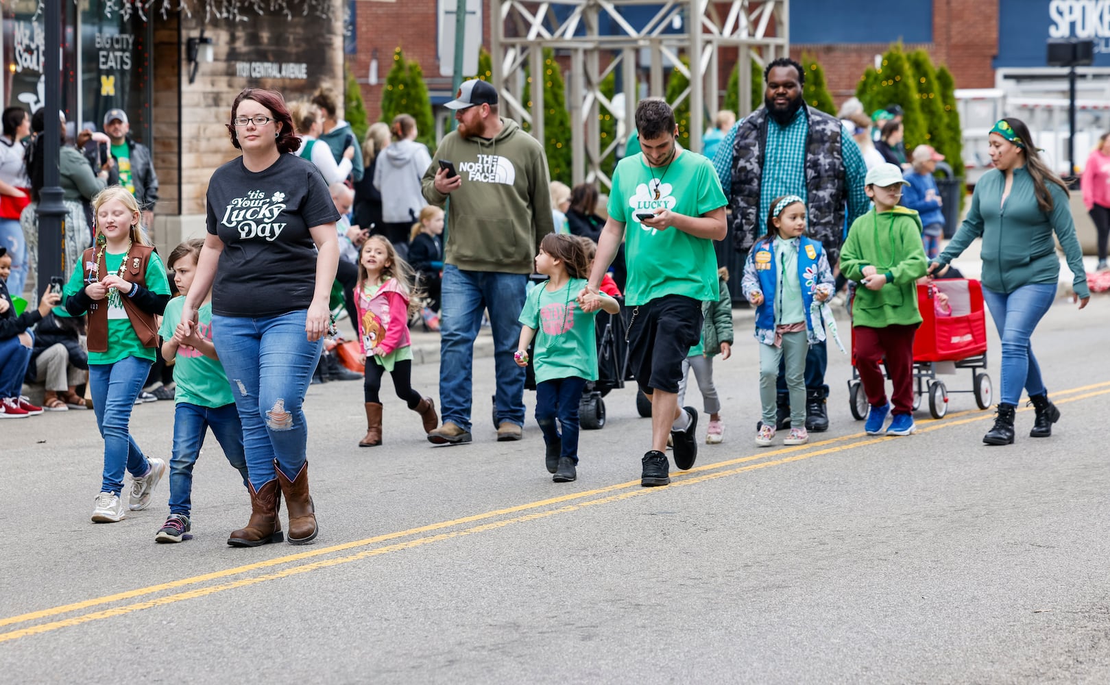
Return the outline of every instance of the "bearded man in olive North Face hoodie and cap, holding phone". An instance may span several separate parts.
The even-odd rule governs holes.
[[[539,241],[554,231],[543,146],[497,113],[497,90],[463,83],[447,103],[456,131],[440,143],[422,180],[430,204],[447,207],[441,295],[440,405],[435,444],[471,441],[474,339],[488,309],[497,375],[497,440],[519,440],[524,369],[513,360],[517,317]],[[441,168],[450,162],[454,171]]]

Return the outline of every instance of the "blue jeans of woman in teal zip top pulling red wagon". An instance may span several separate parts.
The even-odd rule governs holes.
[[[999,402],[1017,405],[1021,388],[1029,395],[1043,395],[1040,366],[1033,357],[1029,339],[1033,329],[1052,306],[1056,298],[1054,283],[1033,283],[1012,293],[982,289],[982,298],[1002,338],[1002,391]]]

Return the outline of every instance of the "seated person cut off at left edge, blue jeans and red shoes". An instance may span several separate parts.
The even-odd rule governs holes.
[[[48,288],[38,309],[17,316],[16,306],[8,295],[9,274],[11,255],[7,247],[0,247],[0,419],[21,419],[42,413],[42,407],[20,397],[33,346],[28,329],[42,320],[51,307],[61,301],[61,296]]]

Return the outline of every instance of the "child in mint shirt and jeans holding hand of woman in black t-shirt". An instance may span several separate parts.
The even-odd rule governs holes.
[[[196,238],[178,245],[167,264],[181,297],[170,300],[162,317],[162,358],[173,364],[173,454],[170,458],[170,515],[154,535],[155,542],[181,542],[192,529],[193,467],[204,444],[204,433],[212,434],[231,466],[246,478],[243,453],[243,426],[235,409],[231,384],[212,345],[212,295],[198,309],[198,326],[183,335],[181,308],[193,285],[196,259],[204,241]]]

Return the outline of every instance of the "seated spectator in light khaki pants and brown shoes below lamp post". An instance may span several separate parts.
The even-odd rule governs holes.
[[[84,319],[52,310],[34,327],[34,346],[24,380],[43,384],[42,408],[47,411],[88,409],[77,387],[85,382],[89,354],[81,347]]]

